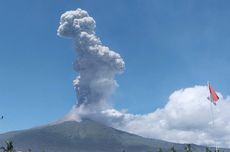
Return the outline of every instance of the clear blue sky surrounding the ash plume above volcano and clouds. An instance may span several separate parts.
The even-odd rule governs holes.
[[[2,0],[0,132],[54,121],[76,102],[72,42],[56,36],[59,18],[82,8],[97,36],[122,55],[117,109],[143,114],[163,107],[176,89],[230,90],[230,1]]]

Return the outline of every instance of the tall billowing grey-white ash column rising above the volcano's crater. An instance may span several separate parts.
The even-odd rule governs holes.
[[[57,33],[72,38],[76,47],[74,69],[79,76],[74,80],[77,108],[102,110],[117,86],[114,80],[125,63],[121,56],[104,46],[95,35],[96,22],[84,10],[77,9],[62,14]]]

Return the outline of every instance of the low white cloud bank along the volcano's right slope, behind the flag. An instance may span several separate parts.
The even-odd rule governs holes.
[[[88,117],[114,128],[144,137],[179,143],[195,143],[230,147],[230,97],[223,98],[213,106],[212,125],[210,101],[206,86],[180,89],[169,96],[163,108],[145,115],[134,115],[125,111],[107,109],[103,111],[79,111],[75,108],[72,116]]]

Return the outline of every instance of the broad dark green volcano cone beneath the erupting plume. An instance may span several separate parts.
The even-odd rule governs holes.
[[[92,120],[64,122],[0,135],[0,142],[12,140],[17,150],[35,152],[153,152],[159,147],[184,151],[184,145],[143,138],[107,127]],[[193,151],[204,147],[193,145]],[[225,150],[227,151],[227,150]]]

